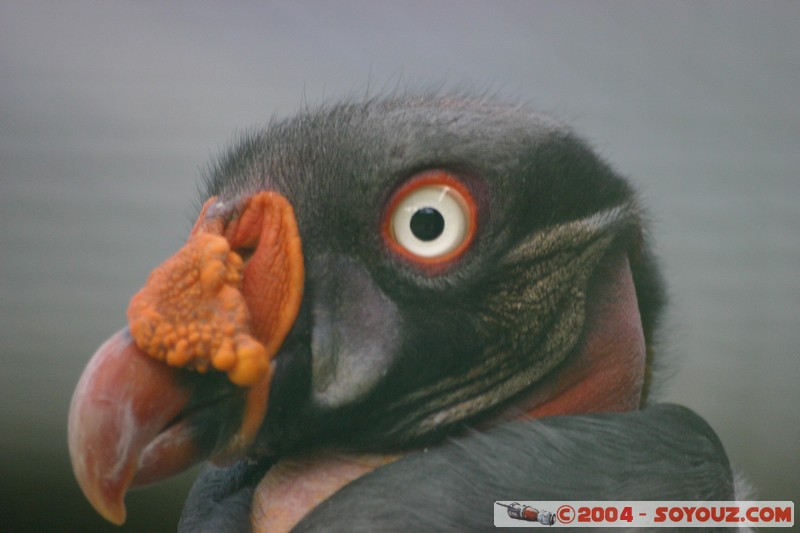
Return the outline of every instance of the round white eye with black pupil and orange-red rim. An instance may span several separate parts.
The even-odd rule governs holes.
[[[392,248],[417,262],[444,263],[469,246],[476,212],[461,181],[448,172],[425,172],[392,197],[384,237]]]

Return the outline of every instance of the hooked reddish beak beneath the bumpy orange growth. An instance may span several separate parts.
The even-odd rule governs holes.
[[[242,389],[217,380],[211,392],[185,374],[142,352],[123,328],[81,376],[69,412],[70,459],[87,499],[110,522],[125,522],[129,488],[208,457],[238,456],[255,438],[268,381]]]

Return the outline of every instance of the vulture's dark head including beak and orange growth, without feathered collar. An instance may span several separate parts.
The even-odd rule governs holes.
[[[421,186],[464,217],[438,257],[393,226]],[[203,201],[73,399],[76,475],[112,521],[129,486],[204,458],[373,468],[465,425],[646,395],[662,293],[640,209],[550,119],[457,97],[323,108],[241,139]]]

